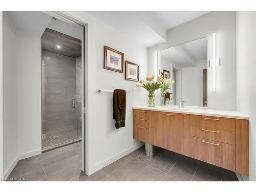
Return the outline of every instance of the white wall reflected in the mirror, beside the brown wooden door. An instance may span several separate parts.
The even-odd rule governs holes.
[[[187,106],[203,106],[203,69],[207,69],[207,60],[197,60],[195,67],[181,69],[182,100]]]

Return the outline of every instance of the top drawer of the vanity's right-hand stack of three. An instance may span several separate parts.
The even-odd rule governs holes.
[[[191,115],[191,125],[234,132],[236,128],[236,119]]]

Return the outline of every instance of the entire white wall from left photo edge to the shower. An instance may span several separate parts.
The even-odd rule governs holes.
[[[4,174],[18,158],[41,153],[40,37],[3,18]]]

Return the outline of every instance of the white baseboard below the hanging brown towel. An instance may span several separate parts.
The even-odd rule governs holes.
[[[128,155],[128,154],[132,153],[133,151],[137,150],[137,148],[140,148],[143,145],[144,145],[144,143],[140,142],[140,143],[138,143],[138,144],[136,144],[136,145],[134,145],[130,148],[127,148],[126,150],[122,151],[121,153],[119,153],[117,155],[114,155],[114,156],[110,157],[109,159],[106,159],[105,161],[102,161],[102,162],[94,165],[94,171],[92,173],[89,173],[89,175],[97,172],[99,169],[115,162],[116,160],[124,157],[125,155]]]

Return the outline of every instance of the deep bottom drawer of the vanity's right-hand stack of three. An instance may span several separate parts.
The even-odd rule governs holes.
[[[191,136],[190,156],[233,172],[236,170],[235,145]]]

